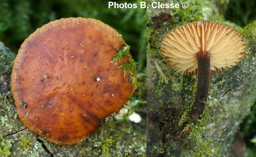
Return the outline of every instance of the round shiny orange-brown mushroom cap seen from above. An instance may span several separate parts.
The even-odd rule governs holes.
[[[130,69],[121,68],[129,63]],[[99,20],[49,22],[23,42],[14,61],[18,117],[51,142],[80,142],[129,100],[136,86],[134,63],[123,38]]]

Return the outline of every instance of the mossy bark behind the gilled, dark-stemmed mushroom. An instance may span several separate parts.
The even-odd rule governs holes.
[[[213,74],[210,80],[209,95],[220,106],[210,108],[211,118],[202,137],[212,141],[210,148],[217,151],[215,156],[229,156],[236,131],[256,98],[256,21],[244,28],[227,22],[219,15],[215,1],[190,0],[186,9],[153,9],[152,2],[147,1],[147,156],[198,154],[197,143],[191,137],[174,142],[182,131],[178,127],[179,119],[193,104],[197,76],[181,75],[168,67],[160,54],[160,43],[177,26],[199,20],[220,22],[243,36],[247,34],[243,60],[228,71]]]

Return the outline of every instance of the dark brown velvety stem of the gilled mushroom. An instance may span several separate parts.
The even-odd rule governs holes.
[[[197,92],[191,110],[193,116],[200,118],[204,112],[205,103],[203,101],[207,101],[208,98],[210,76],[210,53],[199,51],[197,53]]]

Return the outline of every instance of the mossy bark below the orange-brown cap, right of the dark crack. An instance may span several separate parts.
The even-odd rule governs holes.
[[[145,127],[145,126],[144,126]],[[137,131],[135,131],[137,130]],[[145,130],[138,124],[129,121],[116,124],[108,121],[96,133],[81,143],[57,146],[44,140],[46,147],[55,156],[145,156]],[[40,137],[42,139],[42,137]],[[81,149],[82,148],[82,149]]]

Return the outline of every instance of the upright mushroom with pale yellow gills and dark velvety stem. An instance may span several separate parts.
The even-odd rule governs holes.
[[[234,28],[212,21],[179,26],[161,43],[166,63],[184,75],[197,74],[197,92],[191,115],[201,118],[208,98],[211,73],[218,73],[241,61],[246,41]]]

